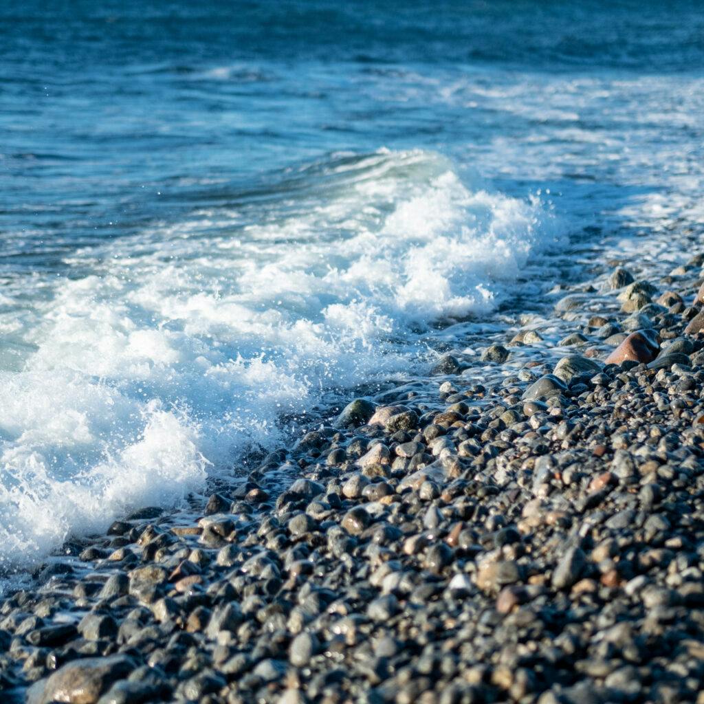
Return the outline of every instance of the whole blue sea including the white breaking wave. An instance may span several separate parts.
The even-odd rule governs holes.
[[[424,377],[555,256],[698,231],[703,37],[694,2],[2,5],[1,569]]]

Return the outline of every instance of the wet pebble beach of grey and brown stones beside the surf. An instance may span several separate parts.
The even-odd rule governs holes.
[[[482,365],[451,350],[420,401],[386,391],[272,453],[207,515],[115,522],[71,572],[4,599],[0,691],[696,701],[704,339],[683,331],[703,263],[640,284],[603,270]],[[661,368],[603,367],[643,329]]]

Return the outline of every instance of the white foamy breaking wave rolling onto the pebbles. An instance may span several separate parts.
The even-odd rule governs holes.
[[[337,155],[276,192],[5,291],[0,561],[177,505],[327,389],[413,367],[412,330],[489,312],[556,237],[536,199],[472,189],[426,151]]]

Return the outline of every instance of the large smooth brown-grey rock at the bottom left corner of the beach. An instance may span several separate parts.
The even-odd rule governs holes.
[[[126,655],[75,660],[41,679],[27,692],[27,704],[95,704],[113,682],[125,679],[136,665]]]

